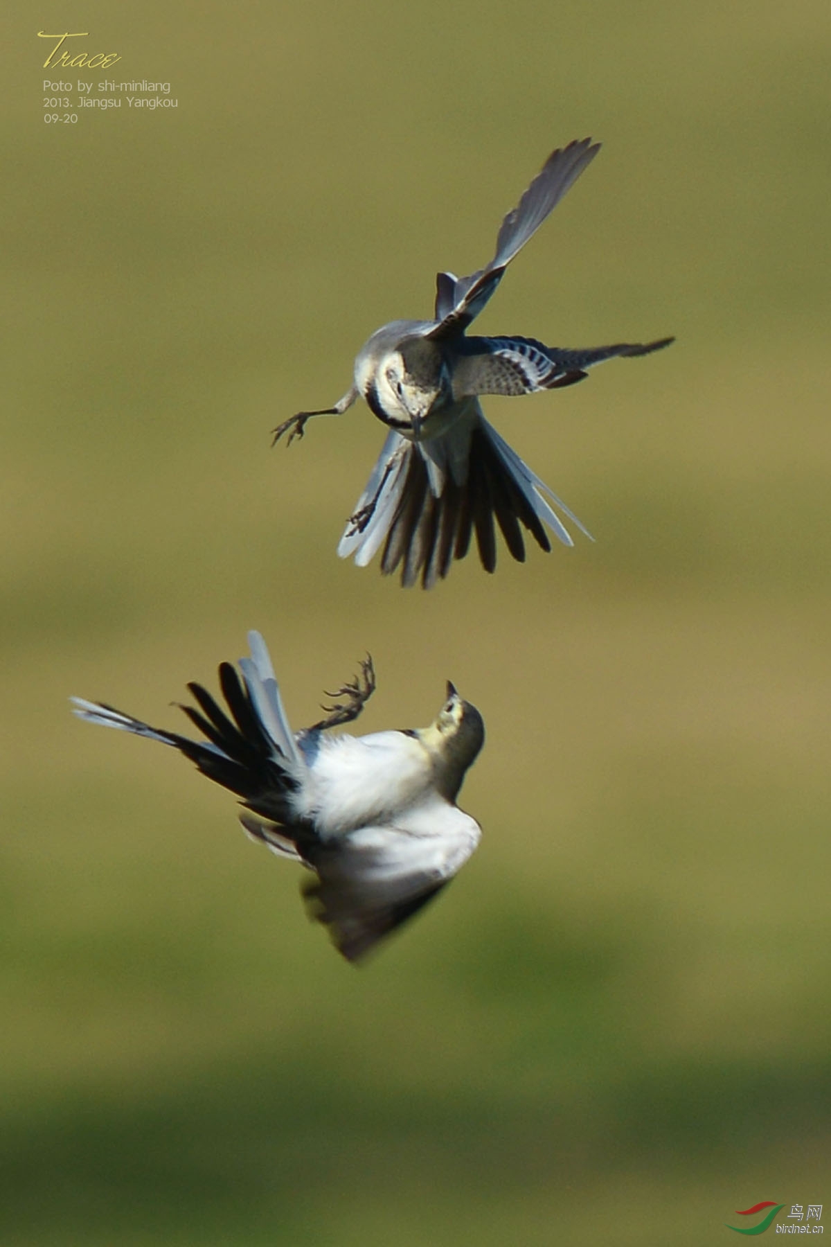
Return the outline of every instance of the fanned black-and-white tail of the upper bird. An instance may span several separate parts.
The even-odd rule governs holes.
[[[564,503],[522,461],[482,415],[476,399],[440,438],[414,443],[390,433],[368,488],[338,546],[364,567],[381,550],[381,571],[425,589],[463,559],[476,532],[486,571],[496,567],[496,519],[511,555],[525,560],[525,527],[551,550],[546,525],[573,545],[548,499],[588,536]]]

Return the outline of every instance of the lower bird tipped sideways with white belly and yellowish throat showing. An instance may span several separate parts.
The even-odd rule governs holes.
[[[417,913],[467,862],[478,823],[456,806],[465,772],[485,741],[482,716],[447,683],[430,727],[329,736],[358,718],[375,691],[371,658],[328,697],[320,722],[292,733],[265,642],[248,633],[242,681],[229,662],[219,686],[230,717],[201,685],[181,708],[206,737],[150,727],[103,702],[70,698],[87,723],[172,744],[202,774],[237,793],[248,834],[316,878],[303,887],[310,917],[356,961]]]

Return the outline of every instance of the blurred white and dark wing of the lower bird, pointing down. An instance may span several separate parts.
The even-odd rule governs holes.
[[[316,879],[303,887],[309,914],[356,961],[450,882],[480,835],[473,818],[434,794],[394,824],[316,843],[308,853]]]

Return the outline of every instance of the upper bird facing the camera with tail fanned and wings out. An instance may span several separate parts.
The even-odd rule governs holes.
[[[343,415],[363,397],[390,429],[340,544],[341,559],[365,566],[382,547],[381,571],[401,567],[401,584],[425,589],[462,559],[473,531],[486,571],[496,567],[493,519],[516,560],[521,525],[551,550],[546,525],[573,545],[554,506],[589,536],[566,504],[520,459],[482,413],[482,394],[533,394],[582,380],[592,364],[648,355],[673,338],[572,350],[536,338],[475,338],[465,330],[505,269],[594,160],[599,143],[574,141],[552,152],[506,216],[493,259],[470,277],[439,273],[432,320],[392,320],[361,347],[353,384],[334,407],[298,412],[274,430],[277,443],[303,436],[313,415]],[[546,498],[547,495],[547,498]],[[552,506],[553,504],[553,506]]]

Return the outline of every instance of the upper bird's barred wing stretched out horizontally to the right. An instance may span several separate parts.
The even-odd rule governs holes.
[[[583,380],[588,375],[586,369],[604,359],[648,355],[673,340],[618,342],[612,347],[568,350],[546,347],[536,338],[462,338],[452,374],[453,398],[559,389]]]

